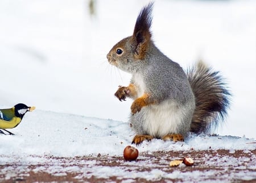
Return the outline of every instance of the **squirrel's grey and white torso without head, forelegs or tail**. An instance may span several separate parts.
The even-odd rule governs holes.
[[[195,110],[195,98],[187,76],[180,65],[163,55],[154,43],[151,42],[150,48],[145,58],[147,62],[141,63],[142,69],[133,74],[131,83],[143,85],[138,83],[138,77],[142,77],[145,85],[143,91],[150,93],[156,104],[130,115],[130,123],[137,134],[155,138],[167,134],[186,136]]]

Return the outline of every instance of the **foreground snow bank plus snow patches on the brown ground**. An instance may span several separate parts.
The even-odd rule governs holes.
[[[238,136],[220,135],[195,135],[190,134],[185,142],[163,142],[153,139],[151,142],[143,142],[138,145],[140,156],[143,160],[140,166],[151,168],[150,172],[130,172],[130,166],[134,162],[124,162],[124,166],[108,167],[99,166],[96,160],[82,160],[81,158],[68,160],[63,157],[77,156],[123,156],[123,149],[131,144],[134,132],[128,123],[111,119],[89,118],[81,115],[62,114],[52,111],[35,110],[27,113],[18,127],[10,130],[15,135],[0,135],[0,165],[13,164],[1,169],[5,179],[21,175],[24,170],[30,170],[32,165],[41,165],[33,169],[34,172],[48,172],[55,176],[62,176],[68,172],[79,172],[77,178],[96,176],[108,178],[117,176],[122,178],[144,177],[146,180],[159,181],[161,178],[184,178],[198,176],[214,176],[214,172],[207,174],[202,172],[174,172],[168,174],[160,169],[155,169],[152,159],[142,156],[143,152],[154,155],[155,151],[183,151],[228,149],[230,153],[243,150],[243,153],[251,154],[251,160],[256,159],[251,150],[256,149],[255,139]],[[57,158],[56,158],[57,157]],[[61,157],[61,158],[58,158]],[[175,158],[175,156],[174,156]],[[178,158],[178,157],[176,157]],[[180,157],[179,157],[180,158]],[[208,160],[209,159],[209,160]],[[243,177],[251,180],[256,177],[255,164],[247,157],[236,158],[230,156],[208,156],[205,154],[202,160],[208,160],[207,166],[211,165],[240,165],[245,173],[233,177]],[[118,161],[109,159],[111,161]],[[251,162],[249,165],[245,163]],[[162,160],[163,165],[169,162]],[[44,165],[44,166],[42,166]],[[65,167],[63,167],[65,165]],[[125,166],[126,165],[126,166]],[[154,165],[154,167],[153,167]],[[82,168],[81,168],[82,167]],[[250,171],[252,170],[252,172]],[[129,171],[129,174],[127,174]],[[89,172],[89,173],[88,173]],[[254,172],[254,173],[253,173]],[[147,176],[145,176],[147,174]],[[199,178],[198,178],[199,180]],[[197,181],[194,180],[194,181]]]

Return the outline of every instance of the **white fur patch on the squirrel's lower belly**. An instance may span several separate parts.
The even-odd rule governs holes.
[[[148,135],[159,138],[167,134],[179,134],[186,108],[171,100],[144,107],[144,130]]]

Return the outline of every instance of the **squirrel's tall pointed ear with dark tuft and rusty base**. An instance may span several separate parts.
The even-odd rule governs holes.
[[[151,22],[152,22],[152,7],[153,3],[149,3],[147,6],[143,7],[138,15],[134,32],[132,36],[132,41],[134,45],[134,54],[138,59],[143,59],[146,55],[146,51],[151,39]]]

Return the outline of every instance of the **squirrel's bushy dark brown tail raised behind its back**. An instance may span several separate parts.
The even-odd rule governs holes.
[[[212,71],[203,61],[188,69],[187,77],[196,98],[191,131],[207,132],[217,127],[219,120],[224,120],[231,94],[220,73]]]

